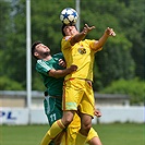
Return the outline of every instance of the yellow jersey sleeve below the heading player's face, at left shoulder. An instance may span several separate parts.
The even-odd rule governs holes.
[[[71,48],[71,44],[70,44],[71,38],[72,38],[71,36],[67,36],[67,37],[62,38],[62,40],[61,40],[61,50]]]

